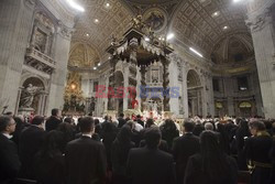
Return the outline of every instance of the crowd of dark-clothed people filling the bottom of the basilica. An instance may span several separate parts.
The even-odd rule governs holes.
[[[182,128],[180,128],[182,127]],[[275,183],[275,121],[0,116],[0,183]],[[242,174],[245,180],[241,181]]]

